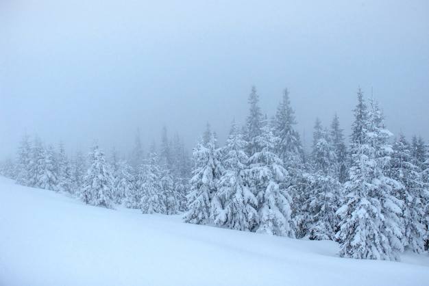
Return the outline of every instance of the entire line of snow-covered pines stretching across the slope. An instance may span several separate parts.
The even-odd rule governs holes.
[[[233,120],[225,146],[214,131],[199,138],[189,158],[178,136],[162,129],[159,152],[143,156],[140,137],[130,163],[98,144],[85,159],[68,160],[25,136],[16,161],[1,171],[16,183],[70,192],[90,205],[184,213],[184,221],[293,238],[330,239],[341,257],[399,260],[400,252],[428,248],[429,155],[421,137],[411,142],[385,127],[378,103],[358,89],[348,146],[339,118],[330,128],[316,119],[305,154],[289,92],[268,118],[253,86],[245,125]]]

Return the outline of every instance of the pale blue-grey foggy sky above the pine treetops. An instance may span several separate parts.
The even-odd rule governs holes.
[[[356,90],[395,134],[429,139],[429,1],[0,1],[0,158],[22,135],[127,151],[162,125],[189,149],[221,144],[252,84],[272,116],[288,88],[297,129],[334,112],[350,133]],[[147,148],[146,148],[147,150]]]

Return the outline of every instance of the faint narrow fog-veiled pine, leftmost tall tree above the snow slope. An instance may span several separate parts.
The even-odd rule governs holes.
[[[16,166],[16,183],[30,185],[30,172],[32,169],[32,146],[29,135],[25,134],[19,144],[18,162]]]

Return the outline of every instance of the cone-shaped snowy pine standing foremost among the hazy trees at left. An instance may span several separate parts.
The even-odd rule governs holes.
[[[88,205],[114,209],[114,179],[104,153],[95,142],[89,153],[90,167],[84,176],[82,199]]]

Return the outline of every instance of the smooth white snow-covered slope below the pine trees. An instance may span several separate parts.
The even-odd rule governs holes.
[[[0,177],[0,285],[429,285],[429,256],[336,257],[338,244],[84,205]]]

